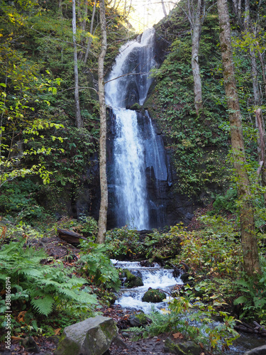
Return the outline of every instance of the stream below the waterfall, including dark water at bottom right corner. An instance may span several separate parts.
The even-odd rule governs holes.
[[[182,285],[180,277],[173,276],[173,270],[164,269],[157,263],[153,267],[141,266],[138,261],[117,261],[112,260],[116,268],[128,269],[133,275],[139,276],[143,280],[143,286],[136,288],[123,287],[118,293],[118,299],[115,305],[120,305],[126,312],[128,311],[143,311],[146,315],[153,310],[160,312],[160,310],[167,308],[168,300],[165,302],[151,303],[143,302],[142,297],[149,288],[155,288],[165,291],[168,296],[173,290],[174,286]],[[217,322],[218,324],[218,322]],[[240,338],[235,341],[229,351],[225,351],[226,355],[243,355],[245,351],[254,349],[257,346],[265,345],[264,338],[258,338],[250,334],[240,333]]]

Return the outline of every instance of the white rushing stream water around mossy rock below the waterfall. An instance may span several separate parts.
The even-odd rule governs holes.
[[[164,269],[157,264],[153,268],[147,268],[140,266],[138,262],[116,260],[112,262],[119,268],[127,268],[131,273],[140,276],[143,280],[143,286],[121,288],[116,305],[121,305],[121,307],[127,310],[143,310],[145,314],[150,313],[153,308],[160,311],[167,307],[167,302],[170,300],[169,293],[174,285],[182,285],[182,280],[174,278],[172,270]],[[159,303],[143,302],[142,297],[149,288],[160,288],[160,290],[165,291],[167,301]]]

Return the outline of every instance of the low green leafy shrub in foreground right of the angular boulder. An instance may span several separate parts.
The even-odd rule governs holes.
[[[228,349],[239,337],[233,329],[235,320],[226,312],[217,311],[199,300],[194,302],[194,296],[174,298],[169,303],[169,310],[162,313],[153,312],[149,315],[152,322],[145,327],[131,328],[134,332],[143,330],[143,337],[151,337],[165,332],[180,332],[186,338],[193,339],[196,344],[204,347],[212,354],[220,354]],[[212,317],[222,317],[223,322],[217,324]]]

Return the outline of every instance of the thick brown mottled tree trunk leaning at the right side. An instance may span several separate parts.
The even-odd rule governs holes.
[[[218,18],[220,25],[221,56],[223,79],[226,90],[233,161],[237,180],[238,198],[240,199],[240,231],[243,249],[244,270],[248,275],[261,273],[260,261],[255,236],[253,203],[250,194],[250,182],[245,168],[245,146],[243,139],[238,92],[235,83],[235,69],[231,46],[231,29],[227,0],[218,0]]]

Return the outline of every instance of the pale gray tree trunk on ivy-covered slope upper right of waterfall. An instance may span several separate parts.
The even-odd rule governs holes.
[[[198,0],[194,21],[192,20],[192,73],[194,80],[194,106],[196,114],[202,105],[201,75],[199,72],[199,38],[201,35],[201,0]]]

